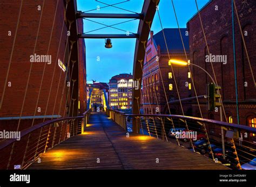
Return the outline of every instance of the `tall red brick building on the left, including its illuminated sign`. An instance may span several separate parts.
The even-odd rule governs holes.
[[[33,118],[35,118],[33,123],[35,125],[44,118],[48,120],[52,117],[66,116],[68,110],[65,111],[64,109],[70,106],[71,90],[68,97],[67,94],[68,90],[72,88],[73,79],[70,75],[72,70],[72,62],[70,62],[67,80],[71,84],[70,87],[66,87],[65,74],[68,70],[67,64],[71,50],[67,15],[71,5],[68,6],[65,16],[65,1],[58,1],[58,4],[57,1],[45,1],[44,5],[43,1],[24,1],[18,21],[21,1],[2,0],[0,4],[0,98],[3,96],[0,124],[5,125],[1,126],[1,129],[4,127],[5,129],[16,130],[19,119],[22,119],[19,130],[23,130],[31,126]],[[55,12],[56,18],[53,23]],[[40,22],[41,14],[42,20]],[[15,36],[16,26],[17,36]],[[82,20],[79,21],[79,30],[83,30]],[[73,33],[71,33],[72,35]],[[74,45],[77,45],[77,42]],[[34,54],[49,55],[49,59],[51,56],[51,63],[31,63],[31,55]],[[8,74],[9,61],[11,64]],[[75,62],[74,67],[76,68],[74,68],[73,75],[78,70],[78,63],[79,80],[76,78],[75,85],[79,84],[80,88],[84,88],[84,91],[80,89],[79,93],[79,100],[83,102],[86,98],[86,73],[85,46],[82,39],[79,40],[79,62]],[[30,78],[28,78],[29,75]],[[76,75],[78,76],[78,73]],[[8,76],[7,85],[5,84],[6,76]],[[39,91],[42,77],[42,88]],[[27,83],[28,89],[25,92]],[[5,92],[4,87],[6,88]],[[63,90],[64,95],[61,99]],[[78,89],[74,91],[74,94],[77,92]],[[80,109],[86,109],[86,103],[80,103]]]

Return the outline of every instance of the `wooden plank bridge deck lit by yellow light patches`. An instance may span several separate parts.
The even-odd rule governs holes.
[[[126,132],[104,113],[92,113],[84,134],[60,143],[28,169],[227,168],[171,142],[136,134],[126,138]]]

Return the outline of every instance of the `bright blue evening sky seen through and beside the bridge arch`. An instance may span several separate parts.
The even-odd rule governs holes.
[[[123,2],[124,0],[99,0],[106,4],[114,4]],[[209,0],[198,0],[199,9],[203,7]],[[130,0],[115,6],[119,8],[140,13],[143,6],[143,0]],[[187,21],[197,13],[196,3],[194,0],[173,0],[180,27],[186,27]],[[95,0],[77,0],[78,10],[88,11],[87,13],[132,13],[125,10],[120,10],[113,7],[103,8],[105,4],[99,3]],[[100,6],[100,10],[96,9]],[[89,11],[93,10],[93,11]],[[160,18],[164,28],[175,28],[177,22],[174,16],[171,0],[160,0],[159,3]],[[92,19],[105,25],[117,24],[131,19]],[[115,25],[130,33],[137,33],[139,20],[132,20],[128,23]],[[93,31],[104,27],[93,23],[92,21],[84,19],[84,33],[88,34],[126,34],[124,31],[119,31],[114,28],[104,28],[102,30]],[[159,18],[156,13],[151,30],[154,34],[161,31]],[[120,73],[132,73],[134,47],[136,39],[111,39],[113,47],[105,48],[104,39],[85,39],[86,46],[86,73],[87,81],[96,80],[97,82],[109,82],[110,78]],[[97,61],[99,57],[99,61]]]

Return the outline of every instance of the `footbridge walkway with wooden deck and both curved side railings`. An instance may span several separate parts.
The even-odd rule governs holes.
[[[229,152],[225,163],[220,162],[221,157],[215,155],[213,146],[221,145],[206,131],[210,125],[225,128],[228,133],[255,133],[252,127],[204,118],[126,114],[109,109],[91,112],[89,109],[82,116],[48,120],[26,128],[21,131],[19,141],[0,141],[0,168],[239,169],[240,162],[245,163],[245,160],[239,160],[238,156],[250,159],[251,152],[237,148],[237,140],[231,138],[232,145],[230,142],[223,144]],[[187,142],[170,138],[170,129],[180,127],[205,133],[205,155],[198,152],[192,138]]]

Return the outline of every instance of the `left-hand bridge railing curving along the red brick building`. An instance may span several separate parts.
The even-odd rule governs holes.
[[[26,169],[40,156],[60,142],[83,133],[91,110],[83,116],[44,121],[21,131],[19,140],[0,141],[0,169]]]

